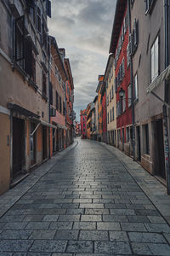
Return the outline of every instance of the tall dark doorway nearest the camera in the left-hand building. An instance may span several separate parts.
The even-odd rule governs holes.
[[[24,120],[13,118],[13,177],[21,173],[25,162],[24,127]]]

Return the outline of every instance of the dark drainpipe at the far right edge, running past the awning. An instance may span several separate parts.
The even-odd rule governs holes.
[[[164,0],[164,14],[165,14],[165,69],[169,65],[169,4],[168,0]],[[168,103],[168,81],[164,84],[164,102]],[[170,170],[169,170],[169,139],[168,139],[168,112],[167,105],[163,105],[163,128],[164,128],[164,154],[165,154],[165,170],[167,177],[167,195],[170,195]]]

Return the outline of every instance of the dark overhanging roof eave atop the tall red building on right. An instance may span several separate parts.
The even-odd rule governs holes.
[[[116,52],[116,45],[119,39],[121,27],[122,27],[122,20],[124,17],[124,12],[127,7],[127,0],[117,0],[116,2],[116,11],[115,11],[115,19],[113,22],[113,28],[111,32],[111,44],[109,53],[115,54]]]

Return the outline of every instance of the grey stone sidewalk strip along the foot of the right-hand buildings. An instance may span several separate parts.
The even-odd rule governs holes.
[[[98,143],[98,142],[96,142]],[[122,153],[118,148],[105,143],[99,143],[100,146],[106,148],[127,169],[127,172],[133,177],[144,194],[150,199],[156,209],[161,213],[162,217],[170,224],[170,196],[167,195],[166,187],[159,182],[156,177],[151,176],[142,166],[126,154]]]

